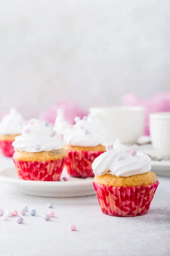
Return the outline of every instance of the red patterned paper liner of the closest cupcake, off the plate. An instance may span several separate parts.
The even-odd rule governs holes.
[[[159,181],[147,186],[113,187],[93,182],[103,213],[117,217],[132,217],[148,212]]]

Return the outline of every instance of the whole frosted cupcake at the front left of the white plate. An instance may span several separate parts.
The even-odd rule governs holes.
[[[31,119],[17,136],[13,160],[18,177],[23,180],[58,181],[67,151],[63,138],[48,122]]]

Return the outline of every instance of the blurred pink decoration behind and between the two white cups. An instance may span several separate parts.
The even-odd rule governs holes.
[[[142,106],[146,109],[144,135],[150,135],[149,114],[154,112],[170,111],[170,92],[159,93],[152,99],[142,100],[133,94],[127,94],[123,97],[124,106]]]

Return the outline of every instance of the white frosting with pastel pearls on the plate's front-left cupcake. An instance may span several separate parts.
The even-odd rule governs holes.
[[[31,119],[12,143],[14,151],[41,152],[62,148],[63,138],[48,122]]]

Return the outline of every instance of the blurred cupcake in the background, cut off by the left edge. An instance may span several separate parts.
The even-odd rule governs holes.
[[[11,108],[8,115],[4,116],[0,122],[0,149],[4,156],[12,157],[14,147],[12,142],[20,135],[20,125],[24,122],[23,117],[15,108]]]

